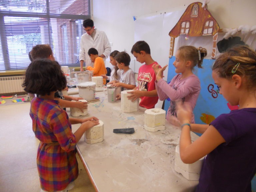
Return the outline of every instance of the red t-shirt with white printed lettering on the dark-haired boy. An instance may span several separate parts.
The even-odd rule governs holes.
[[[155,81],[156,81],[156,75],[155,71],[152,68],[153,64],[158,64],[157,62],[154,62],[150,65],[142,65],[139,68],[139,75],[138,75],[138,86],[137,90],[139,91],[153,91],[155,90]],[[158,101],[158,96],[156,97],[141,97],[140,106],[145,107],[147,109],[152,109],[155,107],[155,104]]]

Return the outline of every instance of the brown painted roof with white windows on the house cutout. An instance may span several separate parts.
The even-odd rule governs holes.
[[[169,32],[169,36],[176,38],[180,34],[191,37],[215,35],[220,27],[211,13],[202,7],[201,2],[191,3],[178,23]]]

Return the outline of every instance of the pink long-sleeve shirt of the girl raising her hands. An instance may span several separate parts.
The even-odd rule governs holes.
[[[163,79],[156,82],[159,99],[163,101],[170,98],[170,107],[168,108],[166,119],[176,126],[180,126],[180,123],[176,115],[175,101],[182,99],[183,102],[190,103],[193,110],[201,90],[200,80],[196,75],[193,74],[185,79],[180,78],[181,74],[177,74],[169,84]],[[194,115],[192,116],[191,123],[195,123]]]

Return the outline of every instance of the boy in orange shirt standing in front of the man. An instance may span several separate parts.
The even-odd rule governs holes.
[[[87,66],[86,70],[93,71],[93,76],[101,76],[107,74],[107,69],[103,58],[99,56],[98,51],[95,48],[90,48],[88,50],[88,55],[92,62],[94,62],[93,67]],[[107,81],[103,78],[103,84],[106,85]]]

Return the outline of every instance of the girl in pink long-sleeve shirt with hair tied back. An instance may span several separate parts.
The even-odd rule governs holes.
[[[182,46],[176,52],[176,59],[173,63],[175,72],[178,73],[173,77],[171,82],[167,84],[163,80],[163,71],[166,66],[160,69],[158,64],[153,65],[156,73],[156,90],[161,101],[170,98],[170,107],[168,108],[166,119],[175,126],[180,126],[176,115],[175,101],[182,100],[188,102],[192,111],[196,105],[197,98],[200,93],[200,80],[193,74],[193,68],[197,66],[202,68],[203,58],[207,55],[207,50],[193,46]],[[191,122],[195,122],[194,115]]]

